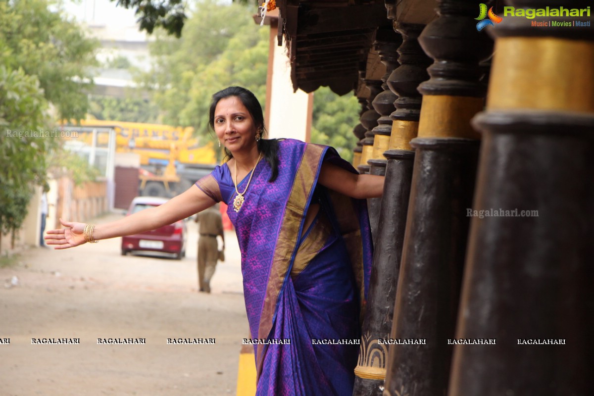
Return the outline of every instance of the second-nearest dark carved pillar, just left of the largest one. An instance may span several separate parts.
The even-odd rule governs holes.
[[[419,36],[434,59],[423,94],[384,396],[447,391],[478,159],[470,119],[482,110],[479,61],[492,42],[476,30],[477,3],[441,0]]]

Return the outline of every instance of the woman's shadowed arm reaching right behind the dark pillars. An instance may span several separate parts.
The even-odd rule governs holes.
[[[384,191],[384,176],[358,175],[339,166],[324,163],[318,183],[351,198],[377,198]]]

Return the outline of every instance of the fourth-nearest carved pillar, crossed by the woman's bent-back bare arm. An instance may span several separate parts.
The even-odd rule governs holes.
[[[369,173],[371,175],[386,175],[386,157],[384,157],[384,151],[388,150],[390,143],[390,133],[392,131],[390,114],[394,111],[394,100],[397,98],[396,94],[388,87],[387,80],[394,68],[399,66],[397,49],[401,44],[402,36],[396,33],[393,28],[378,29],[374,46],[380,55],[381,62],[386,65],[386,74],[381,78],[381,88],[383,91],[378,93],[371,103],[375,111],[380,114],[380,118],[377,120],[377,126],[370,132],[373,136],[373,149],[367,163],[369,164]],[[381,198],[367,199],[369,224],[371,224],[371,235],[374,246],[377,241],[380,200]]]

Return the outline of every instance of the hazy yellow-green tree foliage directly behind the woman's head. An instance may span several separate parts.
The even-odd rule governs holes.
[[[210,98],[229,85],[248,88],[264,104],[268,29],[254,23],[252,12],[245,5],[197,2],[181,39],[156,34],[150,47],[156,62],[143,83],[154,89],[164,123],[206,135]]]

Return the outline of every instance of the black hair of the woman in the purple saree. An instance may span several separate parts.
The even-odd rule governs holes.
[[[268,132],[266,131],[266,126],[264,126],[264,114],[262,112],[262,106],[260,106],[260,102],[258,102],[258,99],[251,91],[242,87],[228,87],[214,94],[213,100],[210,102],[210,110],[208,113],[208,123],[210,128],[214,131],[214,110],[216,110],[219,100],[228,98],[230,96],[236,96],[239,98],[239,100],[241,100],[241,103],[243,103],[245,108],[248,109],[249,115],[252,116],[256,128],[262,131],[262,138],[257,142],[258,151],[262,153],[264,159],[266,159],[272,169],[272,175],[268,181],[274,182],[277,176],[279,176],[279,142],[276,139],[264,139]],[[231,152],[225,147],[225,159],[230,160],[232,158],[233,154],[231,154]]]

